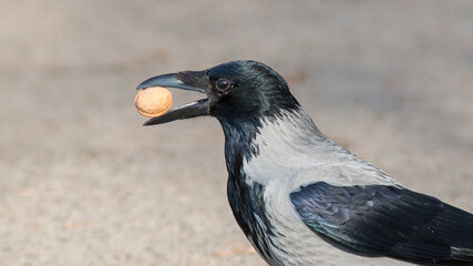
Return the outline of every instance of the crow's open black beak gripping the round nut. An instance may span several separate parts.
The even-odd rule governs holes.
[[[183,75],[182,73],[185,73]],[[164,86],[164,88],[176,88],[188,91],[197,91],[202,93],[206,93],[206,91],[202,88],[193,85],[193,83],[198,84],[199,78],[202,76],[200,72],[182,72],[182,73],[172,73],[157,75],[151,79],[143,81],[137,90],[146,90],[146,88],[151,86]],[[186,76],[186,81],[182,81],[178,78]],[[192,79],[188,79],[188,78]],[[175,120],[184,120],[192,119],[200,115],[208,115],[210,110],[210,105],[208,99],[202,99],[194,102],[186,103],[184,105],[177,106],[168,111],[167,113],[152,117],[146,121],[143,125],[154,125],[154,124],[164,124],[167,122],[172,122]]]

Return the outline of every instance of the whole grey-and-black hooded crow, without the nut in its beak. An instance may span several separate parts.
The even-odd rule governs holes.
[[[145,125],[220,122],[228,201],[268,265],[473,265],[472,214],[405,188],[328,139],[269,66],[233,61],[138,89],[150,86],[206,94]]]

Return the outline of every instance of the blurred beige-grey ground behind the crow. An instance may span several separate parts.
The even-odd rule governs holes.
[[[217,121],[143,127],[133,104],[150,76],[236,59],[473,212],[472,27],[472,1],[0,0],[0,265],[265,265],[226,200]]]

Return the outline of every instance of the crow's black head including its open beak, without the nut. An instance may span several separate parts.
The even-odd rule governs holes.
[[[269,66],[255,61],[232,61],[204,71],[158,75],[144,81],[138,89],[151,86],[198,91],[207,98],[175,108],[148,120],[145,125],[199,115],[238,122],[274,116],[299,106],[286,81]]]

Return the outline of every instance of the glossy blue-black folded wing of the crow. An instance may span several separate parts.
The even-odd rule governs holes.
[[[473,265],[473,215],[434,197],[393,186],[318,182],[290,200],[311,231],[349,252]]]

